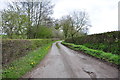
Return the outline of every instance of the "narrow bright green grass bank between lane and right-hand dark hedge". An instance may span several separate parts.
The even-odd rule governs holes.
[[[80,50],[80,51],[82,51],[84,53],[87,53],[87,54],[89,54],[91,56],[103,59],[105,61],[114,63],[116,65],[120,64],[120,55],[112,54],[112,53],[106,53],[106,52],[104,52],[102,50],[90,49],[88,47],[85,47],[84,45],[75,45],[75,44],[66,43],[66,42],[62,42],[62,44],[68,46],[71,49]]]

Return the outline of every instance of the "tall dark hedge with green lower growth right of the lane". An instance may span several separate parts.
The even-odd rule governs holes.
[[[120,40],[118,38],[119,34],[120,31],[113,31],[113,32],[107,32],[101,34],[75,37],[74,41],[71,38],[69,38],[66,39],[65,42],[84,45],[91,49],[103,50],[105,52],[110,52],[113,54],[120,55],[119,45],[118,45],[120,44]]]

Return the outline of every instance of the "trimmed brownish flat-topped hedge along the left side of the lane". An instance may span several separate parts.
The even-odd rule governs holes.
[[[52,42],[51,39],[4,39],[2,40],[2,64],[3,67],[8,63],[25,56],[29,51],[42,47]]]

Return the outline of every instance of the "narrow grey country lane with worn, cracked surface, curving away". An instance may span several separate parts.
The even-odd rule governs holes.
[[[118,70],[58,41],[41,63],[23,78],[118,78]]]

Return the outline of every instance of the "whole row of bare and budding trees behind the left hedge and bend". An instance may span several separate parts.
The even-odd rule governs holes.
[[[69,38],[86,35],[91,26],[85,11],[54,19],[54,4],[48,0],[38,2],[12,2],[2,11],[2,32],[8,38]]]

